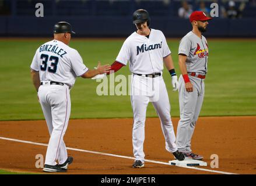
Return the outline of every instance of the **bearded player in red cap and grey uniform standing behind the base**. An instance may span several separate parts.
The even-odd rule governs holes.
[[[178,80],[180,121],[176,143],[187,159],[203,159],[203,156],[192,153],[191,138],[205,94],[204,79],[209,51],[202,33],[206,31],[210,19],[212,18],[206,17],[202,11],[193,12],[190,16],[192,31],[181,39],[178,48],[178,65],[182,75]]]

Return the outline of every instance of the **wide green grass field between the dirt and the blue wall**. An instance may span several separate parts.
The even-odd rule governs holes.
[[[37,95],[30,79],[30,63],[41,40],[0,41],[0,120],[44,119]],[[113,63],[124,39],[74,40],[71,47],[79,51],[89,69]],[[179,40],[168,41],[178,70]],[[205,80],[205,99],[201,116],[256,115],[256,81],[254,73],[256,41],[209,40],[208,74]],[[115,74],[128,76],[129,67]],[[169,72],[164,69],[164,79],[169,91],[171,116],[179,116],[178,92],[173,92]],[[108,77],[109,79],[109,77]],[[98,96],[94,80],[78,78],[71,90],[71,119],[132,117],[130,97]],[[157,117],[149,104],[148,117]]]

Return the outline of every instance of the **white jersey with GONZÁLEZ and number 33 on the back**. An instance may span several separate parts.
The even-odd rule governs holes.
[[[78,51],[57,40],[41,45],[30,67],[39,71],[40,81],[57,81],[69,87],[75,84],[76,77],[89,70]]]

